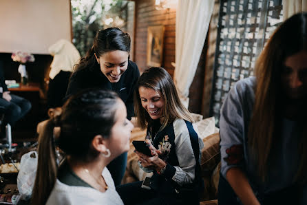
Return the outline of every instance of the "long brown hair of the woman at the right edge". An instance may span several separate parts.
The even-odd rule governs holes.
[[[275,30],[255,65],[257,86],[253,116],[248,128],[248,147],[257,162],[257,173],[263,181],[266,180],[269,161],[272,158],[271,148],[281,134],[279,113],[282,67],[288,56],[307,50],[306,38],[307,13],[295,14]],[[301,159],[299,159],[299,171],[294,180],[306,180],[306,138],[305,130],[299,142]]]

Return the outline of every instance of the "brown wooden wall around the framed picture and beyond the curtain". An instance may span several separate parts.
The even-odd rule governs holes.
[[[134,41],[134,61],[140,72],[147,68],[147,28],[151,25],[165,25],[162,67],[173,77],[176,55],[176,8],[156,10],[155,0],[136,0],[136,33]],[[205,43],[198,68],[190,87],[189,111],[200,114],[204,89],[204,71],[207,58],[207,43]]]

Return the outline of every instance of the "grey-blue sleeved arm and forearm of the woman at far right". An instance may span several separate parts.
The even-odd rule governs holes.
[[[220,116],[221,177],[224,177],[243,204],[259,204],[246,175],[246,116],[253,106],[251,86],[240,81],[226,96]],[[246,98],[247,97],[247,98]],[[247,117],[248,118],[248,117]],[[222,197],[222,196],[221,196]]]

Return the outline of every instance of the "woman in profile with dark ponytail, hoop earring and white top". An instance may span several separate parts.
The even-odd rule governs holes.
[[[60,127],[56,139],[54,127]],[[114,92],[72,95],[39,136],[31,204],[123,204],[106,166],[129,150],[132,129],[125,104]],[[59,169],[56,145],[67,155]]]

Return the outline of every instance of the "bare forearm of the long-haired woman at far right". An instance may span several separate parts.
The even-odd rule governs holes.
[[[244,172],[237,167],[233,167],[226,172],[226,180],[229,182],[237,197],[243,204],[260,204],[253,193]]]

